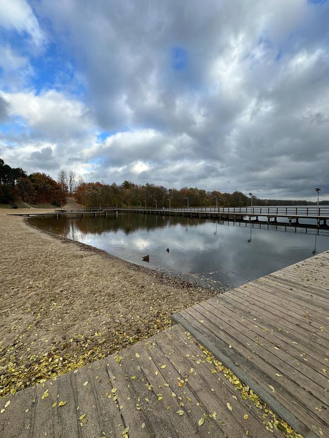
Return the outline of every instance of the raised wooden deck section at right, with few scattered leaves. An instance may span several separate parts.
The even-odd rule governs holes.
[[[329,252],[173,319],[300,434],[329,437]]]

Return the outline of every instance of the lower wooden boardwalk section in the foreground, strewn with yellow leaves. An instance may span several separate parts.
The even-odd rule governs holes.
[[[179,325],[4,397],[1,409],[5,438],[283,437]]]

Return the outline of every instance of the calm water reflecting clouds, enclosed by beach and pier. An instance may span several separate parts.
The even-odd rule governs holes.
[[[254,228],[236,222],[127,214],[117,218],[30,219],[122,259],[215,288],[236,287],[329,249],[329,233]],[[169,252],[166,252],[169,248]],[[142,257],[150,256],[145,263]]]

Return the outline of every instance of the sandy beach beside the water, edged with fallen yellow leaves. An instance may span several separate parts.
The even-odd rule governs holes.
[[[155,334],[214,294],[7,213],[0,209],[0,396]]]

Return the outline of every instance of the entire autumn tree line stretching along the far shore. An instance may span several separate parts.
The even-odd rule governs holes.
[[[57,181],[46,173],[34,172],[27,175],[20,167],[10,167],[0,159],[0,203],[17,200],[32,204],[49,203],[60,206],[66,196],[74,196],[81,207],[246,207],[251,203],[242,192],[206,191],[197,187],[181,189],[146,183],[134,184],[123,181],[117,185],[101,182],[84,182],[74,170],[61,169]],[[320,204],[329,204],[322,201]],[[305,200],[259,199],[254,196],[253,205],[315,205]]]

